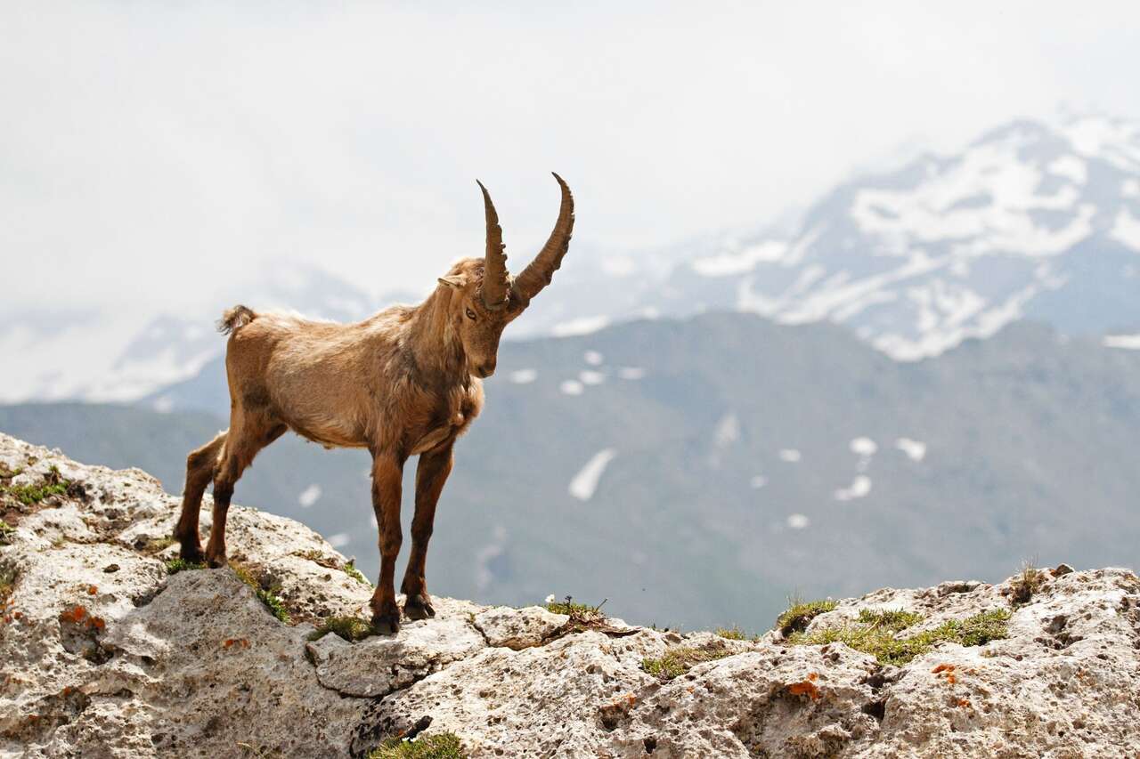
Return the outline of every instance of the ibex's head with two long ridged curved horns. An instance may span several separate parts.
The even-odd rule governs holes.
[[[573,230],[573,196],[561,177],[554,174],[554,179],[562,188],[559,220],[546,245],[522,274],[512,277],[506,269],[506,246],[503,244],[498,213],[487,188],[479,182],[487,214],[487,252],[481,261],[461,261],[446,277],[439,278],[441,286],[451,289],[451,324],[458,332],[467,365],[475,376],[495,374],[503,328],[530,305],[530,299],[551,284],[554,271],[562,266],[562,256]]]

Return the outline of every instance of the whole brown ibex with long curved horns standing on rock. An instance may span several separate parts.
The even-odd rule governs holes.
[[[481,377],[495,373],[503,328],[522,313],[561,266],[573,229],[573,196],[554,174],[562,204],[546,245],[518,277],[506,268],[503,230],[487,188],[487,251],[462,259],[416,307],[394,305],[357,324],[309,321],[278,313],[228,309],[219,330],[229,335],[229,430],[190,452],[174,539],[180,555],[201,562],[198,509],[213,482],[210,566],[226,563],[226,512],[234,483],[262,448],[286,430],[326,448],[367,448],[372,501],[380,528],[380,581],[372,622],[399,629],[393,574],[400,550],[404,463],[420,456],[412,555],[400,589],[408,619],[433,617],[424,582],[435,503],[451,471],[455,440],[483,405]]]

